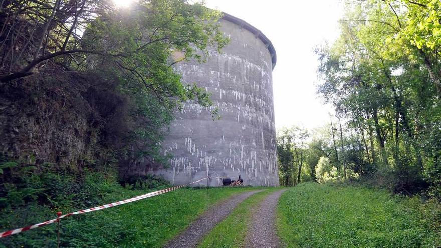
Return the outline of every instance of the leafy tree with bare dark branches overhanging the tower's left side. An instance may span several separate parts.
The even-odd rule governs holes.
[[[132,9],[117,9],[107,0],[3,1],[0,86],[42,75],[97,78],[127,101],[121,117],[127,130],[113,147],[118,158],[165,165],[160,141],[174,111],[187,101],[213,105],[209,93],[184,84],[173,65],[203,62],[209,50],[222,49],[228,39],[219,31],[220,17],[185,0],[141,0]],[[182,56],[173,59],[176,52]],[[104,119],[103,128],[116,114]]]

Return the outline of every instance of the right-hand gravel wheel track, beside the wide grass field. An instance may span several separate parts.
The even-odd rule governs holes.
[[[251,228],[245,247],[281,247],[281,242],[275,232],[276,205],[280,195],[286,189],[279,190],[267,196],[260,206],[253,212]]]

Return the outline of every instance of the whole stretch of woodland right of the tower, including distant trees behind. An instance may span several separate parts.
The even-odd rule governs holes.
[[[441,2],[348,1],[316,49],[329,124],[278,132],[280,181],[358,180],[441,199]]]

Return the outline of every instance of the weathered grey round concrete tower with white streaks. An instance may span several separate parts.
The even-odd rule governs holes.
[[[171,167],[146,173],[173,184],[209,176],[241,175],[245,185],[278,186],[272,70],[276,53],[258,29],[231,15],[220,20],[230,38],[222,53],[210,51],[207,63],[178,63],[185,83],[212,93],[220,120],[209,110],[187,104],[162,146],[173,154]],[[220,186],[222,179],[210,179]],[[206,181],[201,185],[206,184]]]

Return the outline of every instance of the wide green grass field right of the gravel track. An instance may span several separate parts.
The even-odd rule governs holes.
[[[278,234],[287,247],[438,247],[439,229],[422,208],[385,191],[304,183],[282,195]]]

